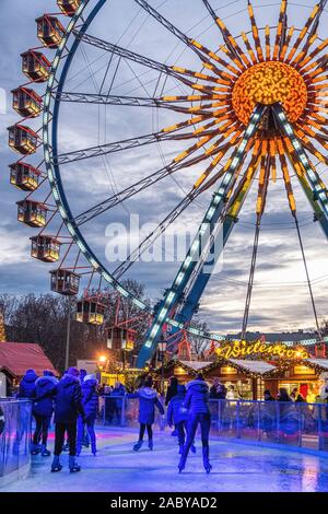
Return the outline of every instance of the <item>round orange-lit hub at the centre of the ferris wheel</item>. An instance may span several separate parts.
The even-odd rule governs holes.
[[[280,102],[290,121],[300,119],[307,103],[307,87],[295,68],[279,61],[260,62],[246,70],[233,90],[233,107],[247,125],[256,104]]]

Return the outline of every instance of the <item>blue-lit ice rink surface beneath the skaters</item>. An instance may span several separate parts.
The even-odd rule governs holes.
[[[200,442],[190,455],[185,471],[177,472],[177,440],[169,432],[155,434],[154,451],[147,442],[132,452],[136,431],[97,430],[99,452],[96,457],[83,448],[79,458],[82,470],[70,474],[68,455],[63,469],[50,472],[51,457],[33,457],[28,478],[5,488],[9,492],[225,492],[225,491],[328,491],[328,456],[265,448],[232,442],[211,442],[213,470],[202,468]],[[50,437],[52,446],[54,437]],[[3,490],[2,490],[3,491]]]

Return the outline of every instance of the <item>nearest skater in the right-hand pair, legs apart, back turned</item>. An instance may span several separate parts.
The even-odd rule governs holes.
[[[188,410],[187,442],[184,446],[183,455],[178,465],[179,472],[185,469],[188,453],[195,440],[195,434],[199,423],[201,429],[203,467],[209,474],[212,469],[209,459],[209,433],[211,428],[211,413],[209,409],[209,386],[204,382],[204,378],[201,373],[197,375],[196,381],[189,382],[189,384],[187,384],[187,395],[184,407]]]

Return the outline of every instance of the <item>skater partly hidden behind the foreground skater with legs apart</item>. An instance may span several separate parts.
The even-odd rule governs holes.
[[[168,427],[176,427],[179,444],[179,453],[183,453],[186,441],[186,423],[188,419],[187,409],[184,408],[186,399],[186,386],[177,385],[177,394],[171,398],[167,408],[167,424]],[[195,444],[191,444],[191,452],[196,452]]]

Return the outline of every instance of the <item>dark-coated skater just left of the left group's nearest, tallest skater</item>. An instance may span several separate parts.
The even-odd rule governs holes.
[[[54,395],[57,384],[58,379],[49,370],[45,370],[44,376],[40,376],[35,382],[33,416],[36,421],[36,428],[32,441],[32,455],[40,453],[43,457],[50,456],[50,452],[47,449],[47,440],[54,412]],[[40,437],[42,446],[39,447]]]

